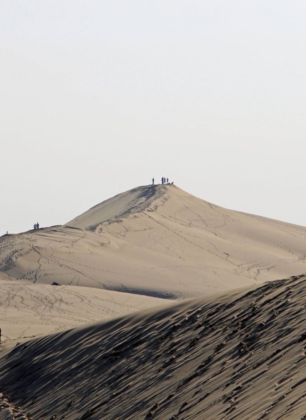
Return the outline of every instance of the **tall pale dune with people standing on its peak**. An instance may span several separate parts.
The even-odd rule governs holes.
[[[0,241],[0,278],[184,299],[306,271],[306,228],[141,186]]]

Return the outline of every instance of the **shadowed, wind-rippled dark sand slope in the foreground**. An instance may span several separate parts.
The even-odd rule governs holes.
[[[2,345],[0,419],[305,419],[305,302],[304,275]]]

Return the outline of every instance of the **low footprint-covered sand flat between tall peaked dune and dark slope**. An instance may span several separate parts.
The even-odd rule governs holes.
[[[46,334],[169,304],[167,299],[81,286],[0,281],[2,340]]]

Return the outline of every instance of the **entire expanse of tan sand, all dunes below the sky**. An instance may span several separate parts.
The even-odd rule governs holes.
[[[306,228],[173,185],[5,235],[0,420],[306,419],[305,272]]]

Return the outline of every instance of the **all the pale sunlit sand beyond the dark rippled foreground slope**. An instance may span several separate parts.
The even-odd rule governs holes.
[[[305,250],[301,226],[142,186],[65,226],[1,238],[0,326],[14,339],[260,284],[306,272]]]

